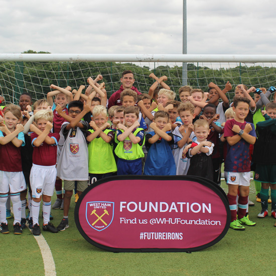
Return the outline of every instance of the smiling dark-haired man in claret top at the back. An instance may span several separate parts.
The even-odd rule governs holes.
[[[121,86],[118,91],[113,93],[111,97],[108,99],[108,109],[113,105],[122,105],[120,101],[120,93],[127,88],[130,88],[131,90],[135,91],[138,95],[141,94],[136,87],[133,86],[135,79],[133,76],[132,71],[125,70],[122,72],[121,77]]]

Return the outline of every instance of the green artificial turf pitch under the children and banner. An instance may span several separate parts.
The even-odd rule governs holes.
[[[256,203],[253,182],[249,217],[256,221],[245,231],[229,229],[215,245],[186,253],[113,253],[96,248],[78,232],[74,223],[72,198],[69,225],[57,234],[42,232],[56,264],[57,275],[274,275],[276,221],[272,217],[258,219],[260,203]],[[227,191],[227,186],[222,183]],[[54,202],[53,197],[53,202]],[[270,207],[270,206],[269,206]],[[62,210],[52,210],[55,226]],[[12,220],[9,220],[12,230]],[[36,240],[28,229],[22,235],[0,235],[0,275],[44,275],[43,260]]]

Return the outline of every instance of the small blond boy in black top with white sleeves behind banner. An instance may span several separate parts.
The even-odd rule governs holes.
[[[204,119],[194,122],[196,140],[184,149],[187,158],[191,158],[187,175],[200,176],[213,180],[212,152],[214,144],[207,141],[210,133],[209,123]]]

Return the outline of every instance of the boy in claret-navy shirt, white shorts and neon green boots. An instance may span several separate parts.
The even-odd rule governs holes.
[[[246,216],[250,185],[249,145],[255,144],[256,133],[253,123],[247,123],[245,118],[249,112],[250,100],[245,97],[234,97],[233,111],[235,118],[224,125],[224,138],[227,140],[227,154],[224,161],[224,174],[228,184],[227,198],[231,211],[230,228],[245,230],[245,224],[254,226],[256,223]],[[236,196],[239,189],[238,217]]]

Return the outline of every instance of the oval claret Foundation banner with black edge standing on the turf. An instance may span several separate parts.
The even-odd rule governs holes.
[[[193,176],[116,176],[80,196],[75,222],[91,244],[113,252],[196,251],[224,237],[224,191]]]

